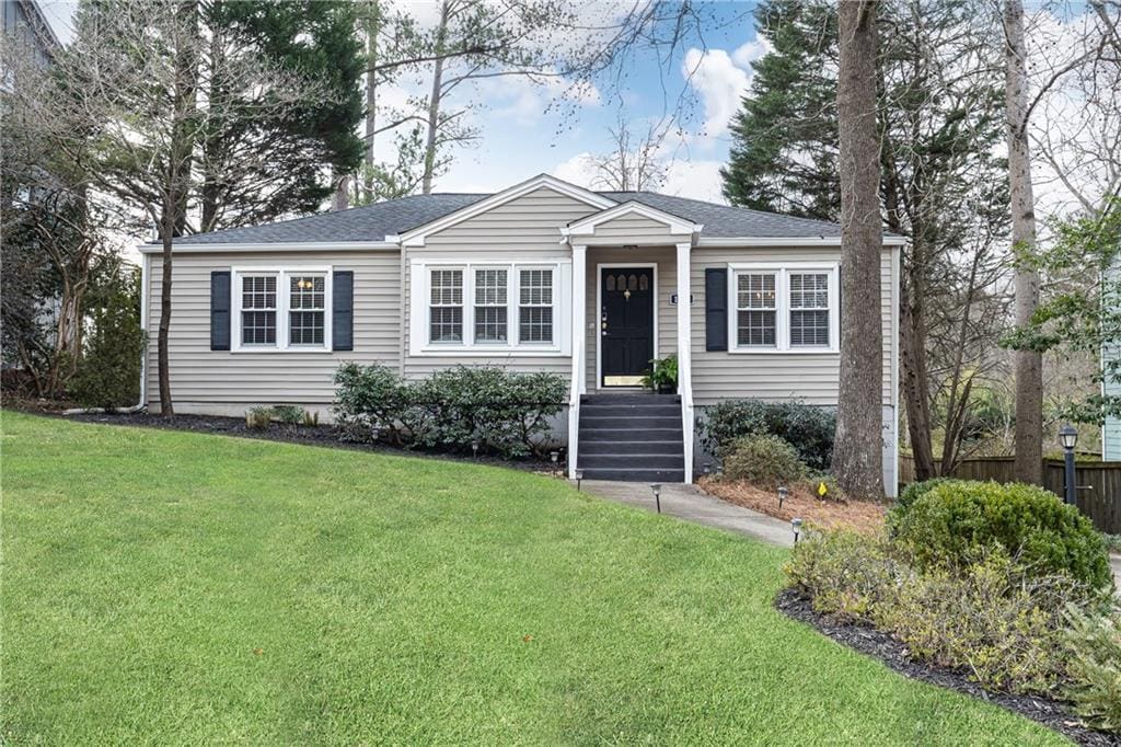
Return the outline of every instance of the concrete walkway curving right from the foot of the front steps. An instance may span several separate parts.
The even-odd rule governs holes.
[[[618,504],[655,510],[654,494],[646,482],[584,480],[583,489]],[[794,532],[788,522],[713,498],[693,485],[661,486],[661,513],[686,522],[743,534],[772,545],[794,546]],[[1121,591],[1121,555],[1110,555],[1110,565],[1113,566],[1113,578]]]

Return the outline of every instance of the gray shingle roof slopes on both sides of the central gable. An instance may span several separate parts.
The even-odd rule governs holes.
[[[765,213],[747,208],[717,205],[701,200],[652,192],[601,192],[615,202],[640,202],[657,210],[702,223],[711,238],[816,238],[841,236],[836,223]],[[300,243],[324,241],[383,241],[479,202],[488,194],[437,193],[414,195],[267,225],[228,229],[176,239],[176,246],[207,243]]]

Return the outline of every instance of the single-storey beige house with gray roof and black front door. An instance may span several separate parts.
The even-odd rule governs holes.
[[[883,472],[896,486],[899,247],[884,240]],[[143,253],[159,320],[160,248]],[[697,411],[837,403],[840,227],[537,176],[177,239],[169,363],[180,413],[293,403],[326,414],[342,361],[453,366],[571,384],[569,472],[691,481]],[[679,397],[628,396],[676,354]],[[156,407],[156,345],[145,389]],[[682,425],[685,425],[683,428]],[[572,459],[575,455],[575,459]]]

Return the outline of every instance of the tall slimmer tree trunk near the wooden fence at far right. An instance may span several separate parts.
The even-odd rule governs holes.
[[[1008,109],[1008,179],[1012,211],[1012,251],[1016,265],[1015,322],[1026,326],[1039,304],[1039,274],[1025,258],[1036,251],[1035,197],[1028,153],[1027,52],[1023,45],[1023,4],[1004,2],[1004,104]],[[1016,351],[1016,479],[1043,482],[1044,441],[1043,356]]]

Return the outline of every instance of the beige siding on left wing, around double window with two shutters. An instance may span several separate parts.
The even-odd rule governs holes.
[[[169,363],[172,397],[183,412],[206,412],[198,405],[259,405],[291,403],[330,405],[332,377],[342,361],[397,366],[400,340],[399,252],[179,253],[173,265]],[[147,399],[159,403],[156,335],[163,260],[152,256],[148,273],[147,328],[151,344],[146,369]],[[354,273],[354,350],[231,352],[210,349],[210,276],[231,267],[277,268],[331,266]],[[331,313],[328,308],[327,314]],[[238,323],[237,311],[232,312]],[[191,405],[195,405],[192,407]],[[235,408],[234,408],[235,409]],[[219,408],[211,407],[211,412]],[[224,412],[231,412],[226,407]]]

